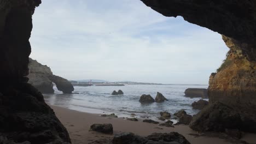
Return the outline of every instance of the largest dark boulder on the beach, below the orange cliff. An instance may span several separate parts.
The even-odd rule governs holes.
[[[256,123],[246,117],[241,116],[237,110],[232,109],[223,103],[213,103],[206,106],[197,113],[189,127],[196,131],[225,131],[225,129],[238,129],[254,131]]]

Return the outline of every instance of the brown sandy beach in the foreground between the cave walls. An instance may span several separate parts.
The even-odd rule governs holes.
[[[123,132],[132,132],[137,135],[147,136],[152,133],[170,133],[171,131],[176,131],[179,134],[182,134],[192,144],[228,144],[238,142],[220,139],[218,136],[195,136],[199,133],[191,130],[187,125],[175,125],[174,128],[167,128],[161,127],[158,124],[143,123],[141,119],[138,122],[133,122],[127,121],[124,118],[101,117],[98,114],[79,112],[53,105],[50,105],[50,107],[54,109],[56,116],[67,128],[72,143],[75,144],[86,144],[97,139],[111,138],[115,134]],[[107,135],[97,133],[95,131],[89,131],[90,125],[94,123],[113,124],[114,134]],[[256,143],[256,134],[245,134],[241,140],[248,143]]]

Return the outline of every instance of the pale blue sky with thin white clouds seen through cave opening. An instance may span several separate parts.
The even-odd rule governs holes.
[[[31,58],[68,80],[207,85],[228,47],[220,34],[139,0],[44,0]]]

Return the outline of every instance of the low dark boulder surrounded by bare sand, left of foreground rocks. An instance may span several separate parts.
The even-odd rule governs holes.
[[[112,124],[92,124],[89,131],[97,131],[104,134],[113,134]]]

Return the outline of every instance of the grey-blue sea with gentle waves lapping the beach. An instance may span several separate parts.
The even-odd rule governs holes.
[[[184,109],[189,115],[195,115],[199,110],[193,110],[191,104],[201,98],[184,97],[187,88],[207,88],[202,85],[125,85],[125,86],[90,86],[74,87],[74,93],[62,94],[55,89],[55,94],[44,94],[46,103],[67,109],[88,113],[115,113],[118,117],[130,117],[135,113],[138,118],[157,119],[161,111],[171,114]],[[111,95],[121,89],[123,95]],[[139,103],[142,94],[150,94],[153,98],[156,92],[162,93],[168,101],[164,103]],[[206,99],[207,100],[207,99]]]

